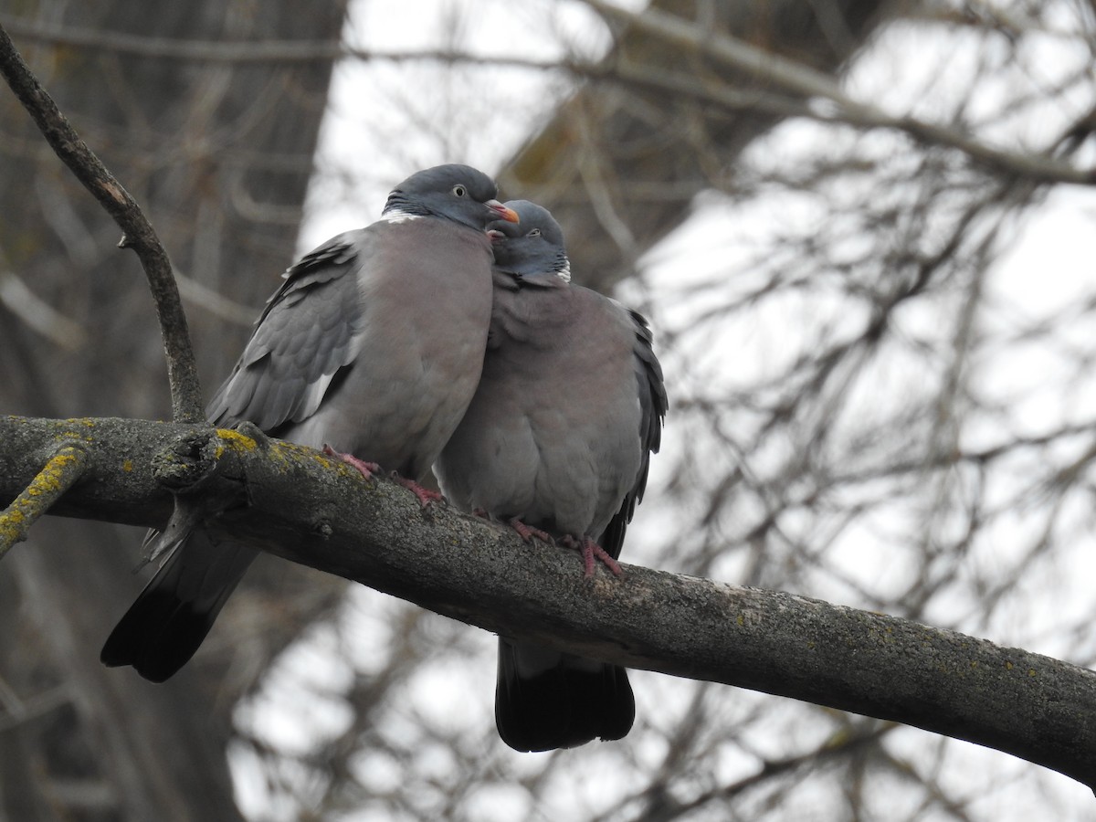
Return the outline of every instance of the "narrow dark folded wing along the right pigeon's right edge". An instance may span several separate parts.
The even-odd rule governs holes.
[[[636,387],[639,392],[639,439],[642,455],[635,484],[625,494],[620,510],[613,515],[598,539],[602,548],[616,558],[620,556],[625,530],[627,530],[628,523],[631,522],[632,514],[636,513],[636,504],[643,499],[651,454],[657,454],[662,443],[662,420],[669,408],[666,387],[662,379],[662,366],[659,364],[658,357],[654,356],[653,335],[647,318],[639,311],[629,310],[628,315],[631,318],[636,335],[632,355],[636,368]]]

